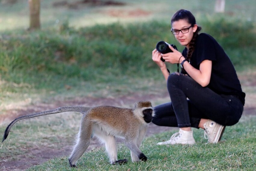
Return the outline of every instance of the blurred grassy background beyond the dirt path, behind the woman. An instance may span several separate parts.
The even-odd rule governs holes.
[[[58,6],[57,2],[66,4]],[[201,32],[212,35],[223,46],[237,70],[254,66],[253,0],[227,0],[224,13],[214,13],[215,1],[210,0],[120,0],[123,5],[117,6],[81,2],[41,1],[42,29],[35,31],[25,29],[26,0],[1,4],[0,92],[61,92],[65,91],[64,85],[80,87],[81,82],[162,80],[151,52],[162,40],[183,50],[170,32],[170,18],[180,8],[194,13]],[[177,69],[176,65],[168,67],[171,71]],[[11,88],[9,83],[21,88]],[[30,88],[22,89],[24,85]]]

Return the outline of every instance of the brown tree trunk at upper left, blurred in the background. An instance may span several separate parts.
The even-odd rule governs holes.
[[[28,0],[30,10],[29,29],[40,29],[40,0]]]

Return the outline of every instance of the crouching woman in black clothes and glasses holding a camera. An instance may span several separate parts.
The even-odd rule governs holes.
[[[193,128],[202,128],[208,143],[217,143],[225,126],[236,124],[241,118],[245,93],[235,68],[217,41],[201,30],[188,10],[177,11],[172,19],[172,33],[185,49],[161,54],[152,51],[152,60],[167,80],[171,102],[155,107],[153,123],[179,127],[178,133],[164,144],[194,144]],[[166,64],[179,63],[182,72],[170,74]]]

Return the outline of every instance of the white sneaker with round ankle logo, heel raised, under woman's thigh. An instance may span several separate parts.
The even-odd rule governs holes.
[[[218,143],[226,126],[220,125],[212,120],[204,123],[204,138],[208,139],[208,143]]]

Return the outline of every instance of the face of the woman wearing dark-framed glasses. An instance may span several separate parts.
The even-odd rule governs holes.
[[[189,29],[189,32],[187,33],[182,33],[181,31],[183,31],[182,29]],[[179,32],[179,34],[174,35],[175,38],[177,39],[177,41],[179,41],[179,43],[183,46],[186,46],[187,48],[189,48],[189,43],[193,38],[193,34],[197,29],[197,25],[195,24],[194,26],[191,27],[191,24],[189,22],[187,22],[187,20],[185,19],[180,19],[178,21],[174,21],[172,23],[172,30],[176,30],[176,32],[178,32],[179,30],[181,30]],[[184,31],[183,31],[184,32]]]

